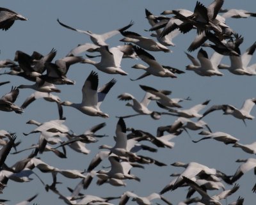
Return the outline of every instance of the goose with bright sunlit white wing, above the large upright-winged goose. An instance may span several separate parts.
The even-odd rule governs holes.
[[[117,47],[108,48],[107,45],[98,47],[94,49],[95,51],[99,51],[101,54],[100,62],[92,61],[91,59],[84,59],[83,63],[89,63],[94,65],[98,70],[109,73],[109,74],[120,74],[120,75],[128,75],[128,73],[124,72],[121,68],[121,61],[124,52],[120,51]]]

